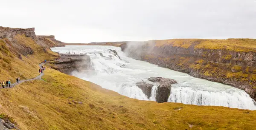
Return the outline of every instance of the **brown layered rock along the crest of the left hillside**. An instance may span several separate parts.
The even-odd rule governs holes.
[[[34,54],[35,50],[29,44],[41,45],[38,50],[43,49],[45,52],[50,47],[64,46],[63,42],[55,40],[54,36],[36,36],[35,28],[23,29],[0,26],[0,40],[10,48],[10,51],[15,52],[19,59],[22,59],[22,56],[26,57]]]

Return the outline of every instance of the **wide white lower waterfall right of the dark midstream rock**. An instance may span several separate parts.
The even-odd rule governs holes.
[[[255,102],[244,91],[203,91],[189,87],[173,87],[168,102],[191,105],[224,106],[241,109],[256,109]]]

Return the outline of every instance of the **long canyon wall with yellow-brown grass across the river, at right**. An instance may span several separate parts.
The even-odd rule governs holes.
[[[154,40],[120,47],[129,57],[231,85],[256,99],[256,40]]]

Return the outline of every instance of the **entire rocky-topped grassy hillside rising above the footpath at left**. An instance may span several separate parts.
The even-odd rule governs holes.
[[[5,28],[0,26],[0,79],[19,76],[30,79],[38,75],[38,63],[58,57],[50,47],[61,46],[54,37],[35,35],[35,28]]]

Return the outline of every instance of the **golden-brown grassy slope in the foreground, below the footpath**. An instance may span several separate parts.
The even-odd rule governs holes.
[[[0,91],[0,113],[12,117],[22,130],[256,127],[256,111],[130,99],[49,68],[43,79]]]

